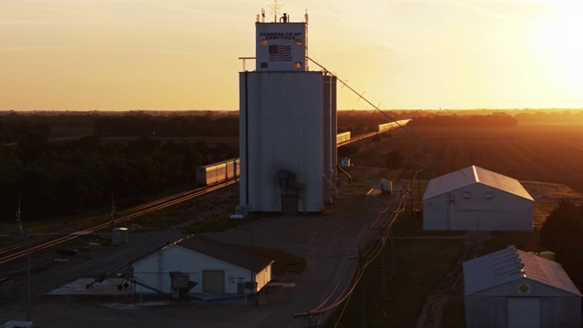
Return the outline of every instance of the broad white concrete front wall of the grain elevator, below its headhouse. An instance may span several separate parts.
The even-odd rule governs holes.
[[[286,170],[301,187],[298,211],[323,210],[322,85],[321,72],[240,73],[241,207],[281,211]]]

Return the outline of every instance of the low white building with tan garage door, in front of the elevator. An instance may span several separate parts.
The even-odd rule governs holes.
[[[271,281],[272,260],[240,247],[190,235],[132,265],[134,279],[162,292],[170,292],[169,272],[189,274],[197,285],[190,292],[259,292]],[[257,282],[256,288],[250,287]],[[137,285],[136,292],[152,290]]]

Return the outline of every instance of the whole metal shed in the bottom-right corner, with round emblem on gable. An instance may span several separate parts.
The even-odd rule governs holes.
[[[561,265],[508,246],[464,262],[466,327],[580,327],[581,292]]]

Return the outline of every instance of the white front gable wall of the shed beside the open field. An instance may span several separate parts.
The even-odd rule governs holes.
[[[475,183],[424,200],[424,231],[532,231],[532,200]]]

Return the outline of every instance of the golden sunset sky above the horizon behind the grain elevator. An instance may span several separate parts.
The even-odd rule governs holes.
[[[0,0],[0,110],[239,109],[238,57],[272,4]],[[307,9],[309,56],[381,108],[583,108],[581,0],[279,4]]]

